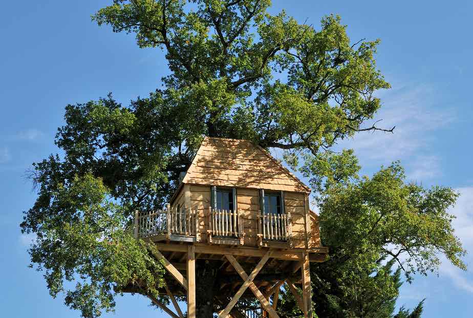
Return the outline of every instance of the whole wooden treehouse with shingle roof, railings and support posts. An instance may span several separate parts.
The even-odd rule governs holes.
[[[135,215],[135,236],[156,244],[155,257],[168,275],[162,292],[177,313],[155,302],[182,318],[176,297],[186,298],[187,316],[195,317],[196,288],[198,293],[207,288],[196,286],[196,260],[205,260],[218,265],[214,288],[233,295],[222,299],[219,317],[235,317],[232,309],[244,299],[261,303],[260,316],[278,317],[283,284],[312,317],[309,266],[323,262],[327,248],[320,246],[309,194],[309,187],[260,146],[205,138],[167,208]]]

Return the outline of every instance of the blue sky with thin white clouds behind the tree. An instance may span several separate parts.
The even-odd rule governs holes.
[[[97,27],[90,15],[111,0],[8,1],[0,10],[0,308],[5,316],[78,317],[52,299],[40,273],[27,268],[30,238],[20,235],[22,211],[35,200],[25,171],[55,153],[53,138],[66,104],[113,92],[123,104],[161,86],[168,72],[159,50],[139,49],[132,35]],[[363,134],[352,147],[364,174],[401,160],[410,180],[451,186],[462,193],[451,211],[473,250],[473,3],[468,1],[273,1],[299,21],[318,25],[336,13],[352,40],[381,38],[378,66],[392,89],[381,92],[377,119],[395,134]],[[473,257],[466,263],[473,266]],[[404,284],[399,304],[426,298],[424,317],[470,317],[473,274],[442,264],[438,275]],[[139,296],[118,298],[105,317],[158,316]]]

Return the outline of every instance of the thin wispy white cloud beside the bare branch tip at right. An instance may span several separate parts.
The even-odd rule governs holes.
[[[393,87],[396,87],[394,84]],[[434,154],[433,132],[453,123],[457,118],[452,109],[436,109],[435,92],[427,86],[397,86],[380,96],[383,105],[376,126],[392,128],[394,133],[360,132],[340,143],[355,150],[362,166],[376,166],[401,160],[408,179],[430,179],[440,174],[438,157]],[[371,126],[374,120],[365,126]]]

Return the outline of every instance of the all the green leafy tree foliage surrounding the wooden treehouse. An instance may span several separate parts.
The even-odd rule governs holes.
[[[463,268],[446,213],[456,198],[450,189],[404,184],[397,165],[359,179],[353,152],[332,151],[360,131],[393,131],[365,124],[381,105],[374,93],[389,88],[376,68],[379,40],[353,43],[338,16],[316,28],[285,12],[271,15],[269,5],[114,0],[92,16],[114,32],[134,33],[141,48],[165,50],[171,72],[162,90],[125,107],[112,95],[68,105],[56,136],[61,156],[34,164],[38,198],[22,231],[37,235],[31,261],[53,296],[66,290],[70,307],[95,317],[113,310],[124,286],[156,295],[162,267],[152,246],[132,238],[133,211],[168,201],[204,136],[281,149],[311,180],[332,251],[313,274],[320,284],[338,284],[320,299],[351,306],[362,291],[339,277],[392,299],[392,279],[369,279],[392,277],[376,262],[386,253],[412,253],[407,275],[435,270],[439,254]],[[75,289],[67,290],[68,281],[78,282]]]

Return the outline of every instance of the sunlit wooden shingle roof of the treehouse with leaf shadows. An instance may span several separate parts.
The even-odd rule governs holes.
[[[310,188],[248,140],[205,137],[182,183],[310,193]]]

